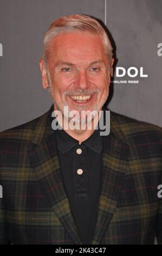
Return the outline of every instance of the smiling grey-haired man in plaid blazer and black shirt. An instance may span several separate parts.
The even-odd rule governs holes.
[[[1,133],[1,244],[151,244],[155,235],[162,243],[161,128],[111,111],[109,134],[96,129],[112,65],[98,21],[69,15],[51,24],[40,68],[53,105]],[[65,107],[79,113],[79,129],[65,129]]]

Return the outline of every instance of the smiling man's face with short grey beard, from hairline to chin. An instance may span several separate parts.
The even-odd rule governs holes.
[[[99,35],[58,34],[50,42],[48,68],[54,109],[101,110],[108,97],[110,71]]]

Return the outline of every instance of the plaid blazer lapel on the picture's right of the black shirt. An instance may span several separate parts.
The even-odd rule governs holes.
[[[124,183],[129,156],[129,145],[121,131],[115,115],[111,112],[110,133],[103,136],[102,180],[99,199],[98,220],[96,222],[93,245],[100,241],[112,220]]]

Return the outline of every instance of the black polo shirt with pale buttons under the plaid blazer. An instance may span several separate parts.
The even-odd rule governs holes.
[[[62,178],[83,244],[90,244],[98,214],[102,170],[100,130],[79,145],[64,130],[56,130]]]

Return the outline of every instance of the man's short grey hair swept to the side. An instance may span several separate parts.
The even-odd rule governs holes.
[[[48,69],[47,60],[50,40],[59,33],[75,31],[90,32],[92,34],[100,35],[103,42],[103,47],[105,48],[105,53],[108,56],[109,63],[111,63],[113,49],[105,29],[96,19],[87,15],[75,14],[60,17],[59,19],[55,20],[53,23],[51,23],[46,34],[44,34],[42,58],[46,69]]]

